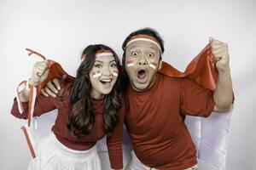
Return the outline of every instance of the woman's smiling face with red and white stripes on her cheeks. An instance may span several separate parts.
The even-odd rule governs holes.
[[[113,55],[96,56],[95,63],[89,72],[94,99],[102,99],[109,94],[118,77],[118,67]]]

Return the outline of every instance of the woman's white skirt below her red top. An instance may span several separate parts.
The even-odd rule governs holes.
[[[61,144],[54,133],[47,134],[38,144],[37,157],[28,170],[101,170],[96,145],[90,150],[72,150]]]

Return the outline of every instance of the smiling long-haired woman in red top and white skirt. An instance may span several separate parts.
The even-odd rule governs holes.
[[[37,86],[48,76],[48,61],[37,62],[29,83]],[[121,169],[124,106],[121,106],[119,58],[102,44],[84,49],[73,82],[62,84],[56,97],[38,95],[33,116],[58,109],[52,132],[40,141],[38,156],[28,169],[100,170],[96,141],[107,134],[108,153],[113,169]],[[28,91],[19,95],[24,112],[15,99],[11,113],[27,118]]]

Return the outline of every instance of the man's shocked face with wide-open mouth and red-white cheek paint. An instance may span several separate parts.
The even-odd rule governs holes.
[[[131,42],[125,50],[125,70],[131,87],[145,91],[154,84],[156,72],[160,70],[160,49],[153,42]]]

